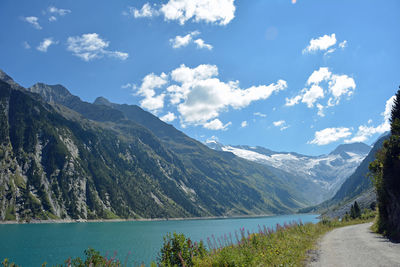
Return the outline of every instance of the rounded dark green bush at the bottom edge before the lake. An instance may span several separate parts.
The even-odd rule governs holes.
[[[184,234],[170,233],[164,236],[164,244],[159,254],[160,266],[193,266],[193,257],[206,254],[203,241],[193,243]]]

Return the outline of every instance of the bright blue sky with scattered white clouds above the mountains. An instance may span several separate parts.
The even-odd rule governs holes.
[[[400,1],[1,0],[0,69],[202,142],[320,155],[389,130]]]

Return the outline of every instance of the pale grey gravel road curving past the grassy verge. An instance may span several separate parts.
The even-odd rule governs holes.
[[[400,244],[371,232],[371,225],[352,225],[327,233],[309,266],[400,266]]]

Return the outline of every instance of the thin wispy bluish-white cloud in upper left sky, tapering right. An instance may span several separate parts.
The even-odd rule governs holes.
[[[67,50],[75,56],[90,61],[104,56],[115,57],[121,60],[128,58],[128,53],[106,50],[109,42],[101,39],[97,33],[87,33],[81,36],[68,37]]]

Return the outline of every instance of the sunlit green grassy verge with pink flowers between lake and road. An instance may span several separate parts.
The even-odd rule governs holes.
[[[242,236],[238,244],[213,248],[193,259],[194,266],[303,266],[318,238],[342,226],[370,222],[374,214],[348,221],[323,219],[317,224],[289,224],[276,231],[264,230]]]

